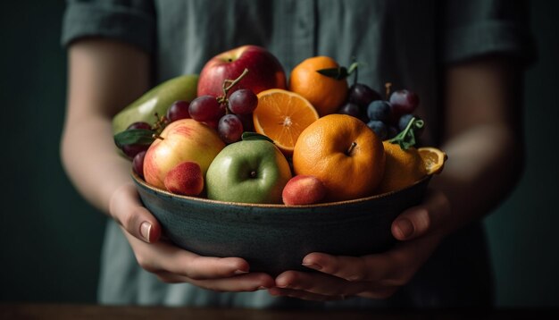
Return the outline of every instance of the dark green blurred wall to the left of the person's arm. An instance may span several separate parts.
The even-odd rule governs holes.
[[[63,0],[0,11],[2,195],[0,299],[94,301],[104,217],[63,173]],[[8,8],[7,8],[8,7]]]

